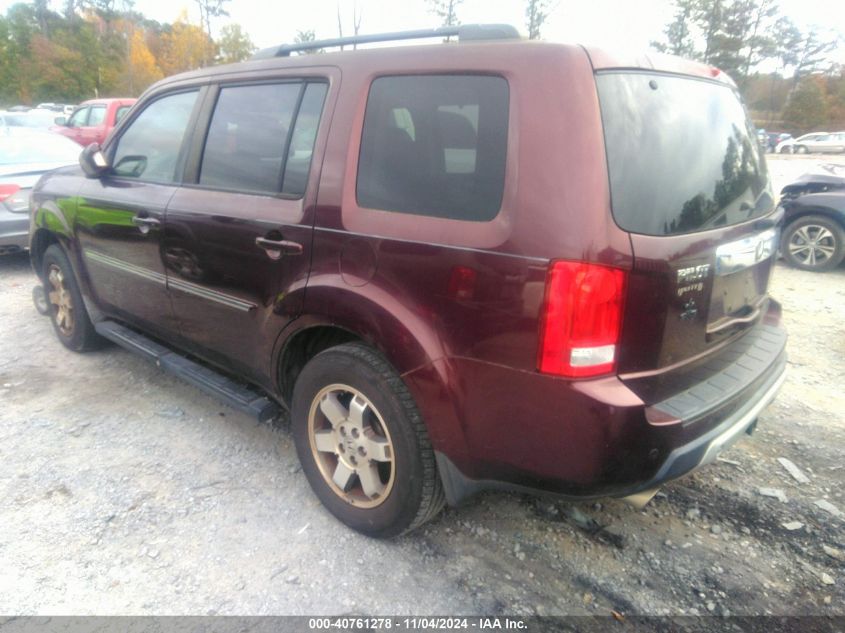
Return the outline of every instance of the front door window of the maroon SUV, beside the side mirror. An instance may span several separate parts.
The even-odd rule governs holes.
[[[127,178],[175,182],[182,139],[196,99],[196,92],[182,92],[148,105],[121,135],[112,171]]]

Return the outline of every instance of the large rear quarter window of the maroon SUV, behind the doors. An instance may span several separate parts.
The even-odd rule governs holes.
[[[505,179],[508,84],[501,77],[382,77],[367,101],[358,204],[491,220]]]

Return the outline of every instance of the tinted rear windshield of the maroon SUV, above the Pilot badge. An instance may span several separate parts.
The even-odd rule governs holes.
[[[631,71],[601,73],[596,84],[621,228],[677,235],[771,210],[766,164],[732,88]]]

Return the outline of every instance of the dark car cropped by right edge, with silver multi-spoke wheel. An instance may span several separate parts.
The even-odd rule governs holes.
[[[803,270],[833,270],[845,258],[845,166],[823,165],[781,191],[781,253]]]

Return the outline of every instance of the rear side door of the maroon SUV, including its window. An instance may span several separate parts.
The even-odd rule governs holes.
[[[265,382],[276,336],[302,307],[313,221],[306,196],[327,83],[223,86],[193,184],[163,245],[182,336],[198,355]]]

